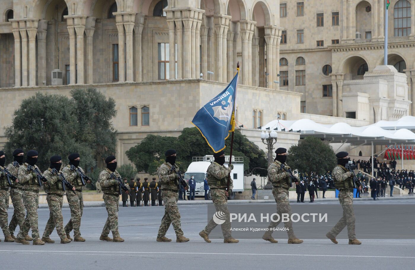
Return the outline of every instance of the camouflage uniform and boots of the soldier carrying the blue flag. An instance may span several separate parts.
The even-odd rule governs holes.
[[[222,211],[225,213],[226,221],[221,226],[222,234],[225,239],[232,238],[231,235],[231,223],[229,217],[229,210],[227,206],[228,198],[225,195],[225,191],[227,188],[227,181],[228,175],[232,171],[231,168],[226,168],[223,165],[220,165],[216,162],[212,162],[207,168],[207,183],[210,187],[210,194],[212,195],[212,201],[215,205],[216,211]],[[228,193],[232,193],[233,189],[233,181],[231,179],[229,185]],[[203,231],[206,234],[210,234],[210,232],[215,229],[217,226],[216,222],[213,221],[213,218],[207,223],[205,229]]]

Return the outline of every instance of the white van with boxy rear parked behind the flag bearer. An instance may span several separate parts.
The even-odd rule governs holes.
[[[204,180],[207,177],[206,171],[213,161],[212,155],[193,157],[193,162],[187,168],[184,178],[186,181],[189,181],[190,177],[194,176],[196,181],[195,196],[205,196]],[[227,166],[227,163],[229,163],[229,156],[225,156],[225,166]],[[232,164],[234,169],[232,170],[231,178],[234,188],[232,194],[229,195],[230,200],[235,198],[236,192],[244,191],[244,158],[232,156]]]

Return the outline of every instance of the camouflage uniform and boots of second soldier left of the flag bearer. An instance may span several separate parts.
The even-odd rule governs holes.
[[[108,236],[110,231],[112,231],[113,237],[120,237],[120,233],[118,232],[118,206],[121,191],[117,179],[112,179],[111,174],[112,171],[105,168],[100,172],[98,180],[104,193],[103,199],[108,212],[107,222],[105,222],[101,236]],[[115,171],[115,177],[121,177],[117,171]]]

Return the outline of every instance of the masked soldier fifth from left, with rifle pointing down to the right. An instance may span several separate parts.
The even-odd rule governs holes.
[[[63,167],[62,173],[63,176],[65,176],[66,180],[75,187],[75,193],[71,191],[66,192],[66,199],[68,199],[69,208],[71,209],[71,219],[69,219],[68,223],[65,226],[65,233],[66,237],[72,241],[72,238],[69,234],[73,229],[73,241],[85,242],[85,239],[81,236],[80,231],[81,218],[83,213],[82,187],[85,186],[86,183],[90,183],[90,180],[83,182],[81,175],[78,173],[79,170],[82,174],[85,174],[83,169],[79,167],[80,157],[78,153],[70,154],[68,159],[69,164]]]

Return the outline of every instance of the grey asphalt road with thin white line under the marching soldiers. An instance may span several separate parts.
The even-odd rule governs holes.
[[[361,201],[356,204],[415,204],[415,200]],[[316,204],[338,204],[316,202]],[[86,242],[60,244],[56,231],[54,244],[44,246],[0,243],[0,269],[412,269],[415,240],[360,239],[359,246],[340,239],[335,245],[328,239],[305,239],[300,245],[285,239],[272,244],[261,239],[241,239],[225,244],[221,239],[205,243],[198,235],[207,223],[207,205],[180,205],[182,228],[187,243],[176,243],[171,227],[170,243],[156,242],[164,207],[120,207],[119,230],[123,243],[99,241],[107,217],[103,207],[84,209],[81,233]],[[9,219],[12,212],[9,211]],[[63,209],[64,222],[70,217]],[[39,229],[43,233],[48,209],[39,209]],[[380,216],[380,222],[382,218]],[[357,220],[356,222],[359,222]],[[280,225],[281,226],[281,225]],[[356,232],[358,233],[358,232]],[[410,230],[413,234],[413,230]]]

